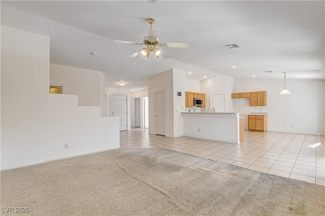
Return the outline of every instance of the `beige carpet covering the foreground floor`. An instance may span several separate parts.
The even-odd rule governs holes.
[[[2,215],[324,215],[325,187],[165,149],[1,172]],[[27,207],[28,213],[6,213]]]

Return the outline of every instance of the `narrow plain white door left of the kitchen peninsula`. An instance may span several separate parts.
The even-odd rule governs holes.
[[[154,128],[155,134],[166,135],[165,92],[154,94]]]

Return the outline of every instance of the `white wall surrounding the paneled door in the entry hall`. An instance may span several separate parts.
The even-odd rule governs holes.
[[[131,130],[131,93],[130,90],[120,86],[119,88],[105,88],[106,95],[106,116],[111,116],[112,94],[127,95],[127,130]]]

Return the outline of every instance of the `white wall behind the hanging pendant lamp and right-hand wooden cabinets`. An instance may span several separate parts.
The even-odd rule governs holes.
[[[283,80],[235,79],[234,93],[267,91],[267,106],[249,106],[248,98],[233,99],[235,112],[268,112],[268,130],[325,134],[324,80],[286,80],[290,95],[279,95]],[[291,127],[293,125],[293,127]],[[247,128],[247,119],[245,119]]]

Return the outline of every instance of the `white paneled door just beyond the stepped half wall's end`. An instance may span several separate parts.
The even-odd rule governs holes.
[[[120,131],[127,130],[127,95],[112,95],[112,116],[120,117]]]

